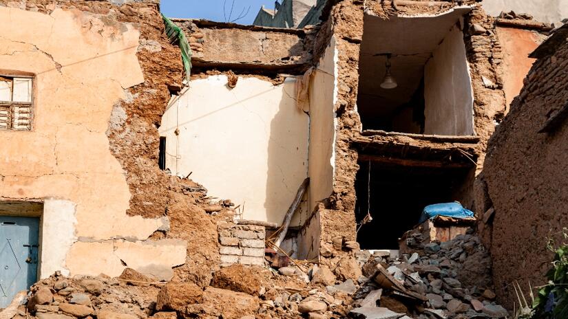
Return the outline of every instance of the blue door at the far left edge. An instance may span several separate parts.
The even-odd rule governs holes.
[[[0,308],[37,280],[39,218],[0,216]]]

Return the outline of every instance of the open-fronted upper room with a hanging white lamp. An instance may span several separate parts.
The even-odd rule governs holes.
[[[364,130],[473,135],[463,14],[364,16],[357,109]]]

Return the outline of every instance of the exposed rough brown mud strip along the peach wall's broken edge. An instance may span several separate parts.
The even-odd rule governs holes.
[[[125,201],[129,206],[113,211],[120,214],[127,210],[130,216],[151,219],[167,215],[170,231],[157,232],[150,239],[188,240],[187,263],[176,269],[174,280],[191,280],[198,285],[209,285],[211,272],[218,267],[219,256],[215,223],[200,208],[209,205],[204,199],[206,190],[188,179],[171,177],[158,168],[159,140],[156,128],[170,98],[167,85],[179,85],[183,76],[179,49],[166,39],[158,5],[146,2],[117,6],[107,1],[45,0],[1,3],[48,14],[61,9],[90,12],[97,14],[104,25],[128,23],[140,33],[137,57],[143,83],[139,80],[123,85],[135,86],[127,91],[120,89],[117,93],[117,97],[123,98],[123,101],[116,104],[112,111],[109,110],[112,114],[110,122],[107,122],[108,115],[100,117],[105,120],[101,123],[101,133],[107,133],[110,151],[123,170],[119,178],[126,179],[128,188]],[[67,135],[76,133],[68,132]],[[70,183],[61,181],[58,185],[63,191]],[[53,188],[53,184],[50,187]],[[94,203],[105,201],[109,201],[108,198]]]

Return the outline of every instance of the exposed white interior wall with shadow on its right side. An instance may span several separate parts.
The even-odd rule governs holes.
[[[244,207],[244,219],[282,223],[308,176],[308,128],[295,78],[239,78],[230,89],[227,76],[210,76],[171,101],[159,131],[173,174],[193,172],[210,196]]]

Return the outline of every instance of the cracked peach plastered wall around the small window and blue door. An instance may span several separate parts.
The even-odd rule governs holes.
[[[144,81],[138,30],[78,10],[0,7],[0,21],[0,70],[35,76],[32,131],[0,131],[0,199],[45,201],[41,276],[120,274],[124,265],[107,262],[120,263],[118,254],[94,250],[101,242],[173,251],[146,241],[167,220],[127,216],[129,188],[105,133],[124,89]]]

